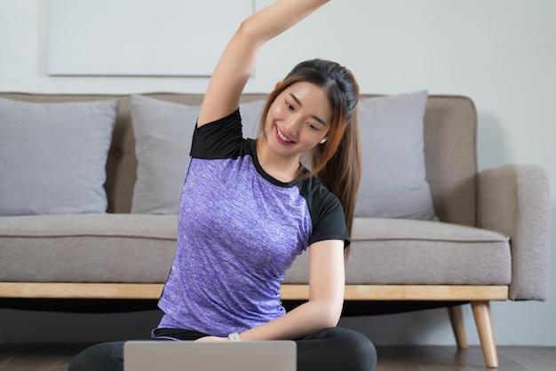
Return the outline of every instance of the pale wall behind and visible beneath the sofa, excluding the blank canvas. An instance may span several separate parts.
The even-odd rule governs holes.
[[[256,1],[257,7],[268,3]],[[46,1],[0,0],[0,91],[203,92],[206,87],[204,78],[49,77],[47,30]],[[552,231],[556,230],[556,2],[334,1],[264,47],[247,90],[269,91],[293,64],[314,57],[350,67],[362,92],[427,89],[473,98],[479,112],[481,170],[510,162],[542,165],[552,179]],[[556,233],[552,234],[554,249]],[[546,302],[492,304],[498,344],[556,345],[555,275],[552,253]],[[103,331],[114,331],[115,323],[137,336],[137,326],[149,328],[155,317],[144,313],[107,319],[4,310],[0,341],[37,340],[25,334],[32,326],[42,328],[44,335],[38,340],[43,341],[96,341]],[[465,318],[469,343],[479,343],[469,308]],[[94,323],[89,338],[84,330],[72,331],[82,329],[83,321]],[[454,343],[444,310],[346,319],[342,325],[359,328],[382,344]]]

